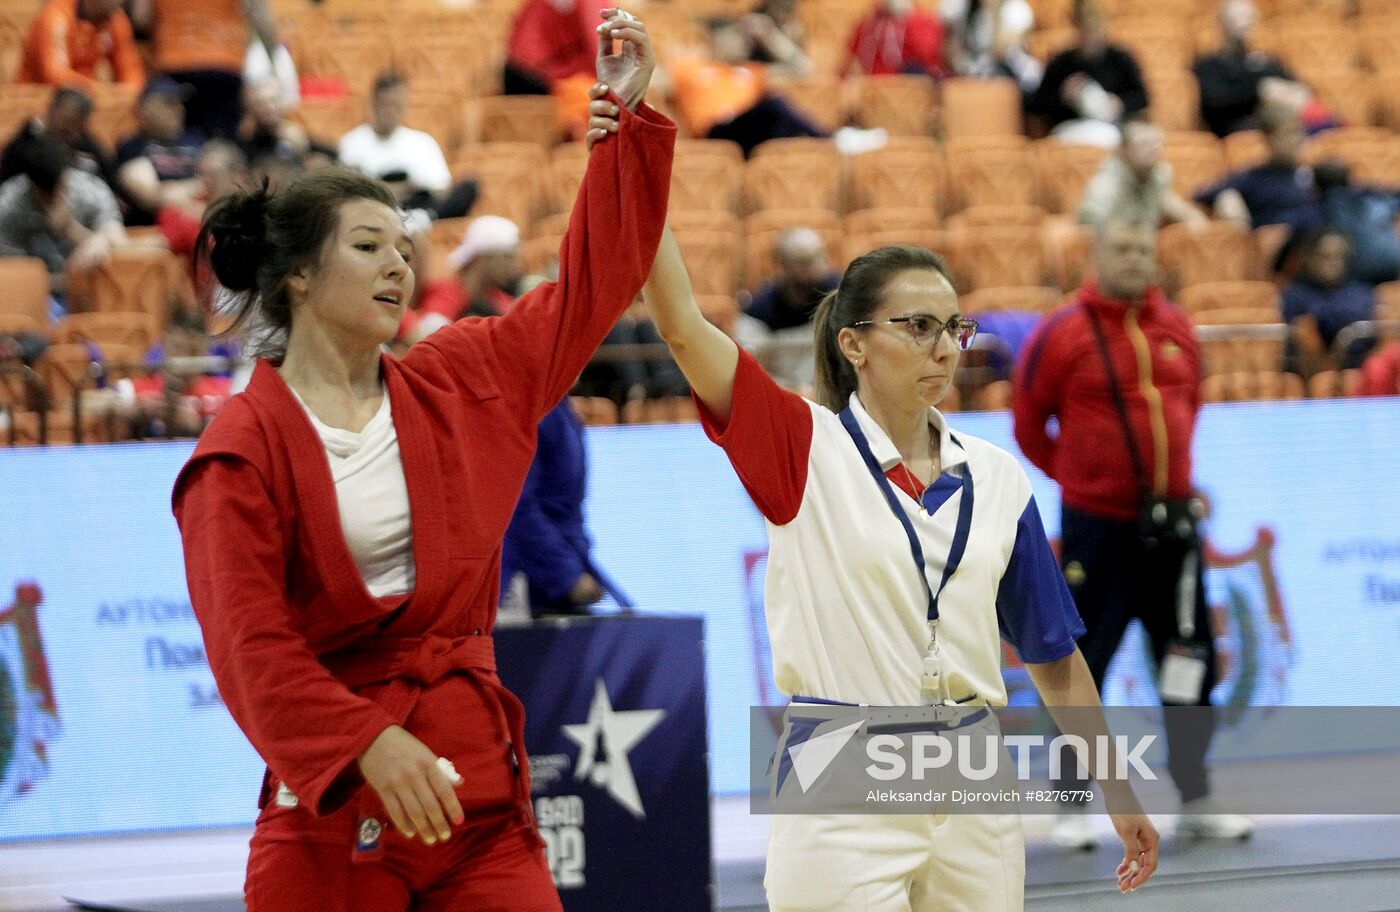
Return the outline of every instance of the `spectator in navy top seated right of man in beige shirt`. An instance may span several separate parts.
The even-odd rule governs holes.
[[[1226,177],[1196,195],[1196,202],[1212,207],[1218,219],[1250,227],[1288,224],[1296,230],[1316,227],[1322,220],[1320,200],[1312,170],[1299,157],[1308,137],[1298,113],[1268,105],[1260,113],[1268,139],[1268,161]]]

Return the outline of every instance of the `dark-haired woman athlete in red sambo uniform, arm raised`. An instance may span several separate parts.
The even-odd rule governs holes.
[[[269,766],[258,912],[560,909],[491,628],[535,429],[640,290],[665,221],[675,126],[641,101],[650,38],[620,11],[599,29],[617,130],[591,154],[560,282],[504,317],[382,353],[414,277],[371,178],[318,171],[206,216],[200,256],[270,357],[172,502],[210,668]]]

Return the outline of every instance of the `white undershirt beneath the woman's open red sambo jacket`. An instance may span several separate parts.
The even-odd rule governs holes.
[[[293,395],[295,389],[293,389]],[[318,419],[301,408],[321,436],[336,483],[340,528],[360,576],[375,598],[413,591],[413,525],[403,479],[399,436],[385,392],[379,410],[358,434]]]

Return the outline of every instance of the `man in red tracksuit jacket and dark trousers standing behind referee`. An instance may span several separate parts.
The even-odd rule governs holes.
[[[1026,343],[1012,412],[1021,450],[1063,490],[1061,566],[1088,628],[1079,650],[1095,684],[1103,689],[1135,618],[1159,665],[1170,650],[1187,660],[1173,660],[1173,671],[1184,665],[1201,675],[1198,684],[1187,675],[1190,695],[1183,696],[1163,674],[1163,698],[1210,706],[1215,653],[1198,542],[1194,535],[1154,537],[1140,523],[1148,499],[1183,509],[1190,499],[1191,433],[1201,405],[1200,350],[1187,315],[1152,284],[1155,248],[1152,227],[1103,226],[1095,244],[1098,279]],[[1056,436],[1046,426],[1051,417],[1060,426]],[[1247,820],[1207,813],[1210,719],[1198,712],[1166,719],[1168,768],[1183,803],[1177,832],[1242,838],[1253,828]],[[1056,842],[1092,848],[1088,821],[1065,810]]]

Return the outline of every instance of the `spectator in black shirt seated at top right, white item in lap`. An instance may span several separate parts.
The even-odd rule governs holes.
[[[1117,144],[1114,125],[1147,108],[1147,84],[1133,55],[1109,42],[1098,0],[1074,1],[1074,48],[1050,59],[1028,113],[1067,143]]]

